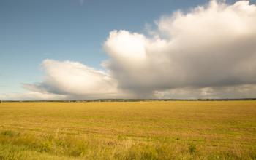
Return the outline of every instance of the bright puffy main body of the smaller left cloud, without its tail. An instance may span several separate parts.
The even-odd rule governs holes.
[[[71,95],[113,94],[116,82],[103,71],[97,71],[81,63],[44,60],[45,85]]]

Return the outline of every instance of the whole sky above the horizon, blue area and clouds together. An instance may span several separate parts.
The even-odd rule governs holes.
[[[255,1],[1,0],[0,99],[256,97]]]

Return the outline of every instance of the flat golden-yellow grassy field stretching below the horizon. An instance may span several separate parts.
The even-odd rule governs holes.
[[[0,103],[0,159],[256,159],[256,101]]]

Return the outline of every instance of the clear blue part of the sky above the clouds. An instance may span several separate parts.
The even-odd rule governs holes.
[[[110,31],[145,33],[163,15],[188,11],[206,0],[1,0],[0,93],[23,92],[20,84],[42,81],[45,59],[101,68]],[[227,1],[232,4],[234,1]],[[255,3],[255,1],[251,1]]]

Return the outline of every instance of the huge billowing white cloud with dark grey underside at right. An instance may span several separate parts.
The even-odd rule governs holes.
[[[154,37],[113,31],[105,42],[107,67],[121,88],[147,97],[156,90],[255,84],[256,7],[249,1],[211,1],[156,24]]]

